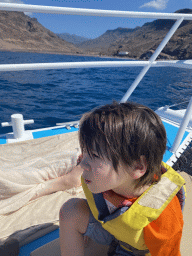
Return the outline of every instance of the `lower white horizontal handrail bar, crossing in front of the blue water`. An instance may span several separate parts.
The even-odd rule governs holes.
[[[74,68],[118,68],[118,67],[144,67],[149,61],[84,61],[84,62],[56,62],[56,63],[26,63],[1,64],[0,72],[29,71],[47,69],[74,69]],[[154,61],[151,67],[176,67],[192,69],[192,60]]]

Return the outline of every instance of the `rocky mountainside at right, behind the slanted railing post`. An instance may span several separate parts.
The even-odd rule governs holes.
[[[177,13],[192,13],[192,10],[183,9]],[[120,52],[129,52],[130,58],[149,59],[174,22],[155,20],[135,29],[108,30],[100,37],[78,46],[86,51],[94,50],[100,55],[118,56]],[[159,58],[192,59],[192,21],[184,21],[180,25]]]

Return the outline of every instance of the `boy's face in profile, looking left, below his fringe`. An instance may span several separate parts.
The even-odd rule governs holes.
[[[129,179],[128,173],[120,168],[118,172],[107,158],[100,158],[95,152],[90,158],[87,152],[83,153],[80,166],[83,168],[83,178],[92,193],[101,193],[110,189],[120,188]]]

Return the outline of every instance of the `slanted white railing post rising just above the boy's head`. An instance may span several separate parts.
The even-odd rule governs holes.
[[[183,17],[180,18],[179,20],[177,20],[174,25],[172,26],[172,28],[170,29],[170,31],[167,33],[167,35],[165,36],[165,38],[163,39],[163,41],[160,43],[160,45],[158,46],[158,48],[156,49],[156,51],[154,52],[154,54],[151,56],[150,60],[149,60],[149,65],[144,67],[140,74],[137,76],[137,78],[135,79],[135,81],[133,82],[133,84],[130,86],[130,88],[127,90],[127,92],[125,93],[125,95],[123,96],[123,98],[121,99],[120,102],[126,102],[128,100],[128,98],[131,96],[132,92],[135,90],[135,88],[137,87],[137,85],[140,83],[140,81],[143,79],[143,77],[145,76],[145,74],[147,73],[147,71],[150,69],[151,65],[153,64],[153,61],[156,60],[156,58],[158,57],[158,55],[161,53],[161,51],[163,50],[163,48],[165,47],[165,45],[169,42],[170,38],[172,37],[172,35],[175,33],[175,31],[177,30],[177,28],[180,26],[181,22],[183,21]]]

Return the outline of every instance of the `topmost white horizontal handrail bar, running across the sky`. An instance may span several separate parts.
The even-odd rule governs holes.
[[[0,10],[64,14],[64,15],[102,16],[102,17],[173,19],[173,20],[178,20],[180,18],[183,18],[184,20],[192,20],[192,15],[186,14],[186,13],[183,14],[183,13],[131,12],[131,11],[68,8],[68,7],[55,7],[55,6],[31,5],[31,4],[12,4],[12,3],[0,3]]]

